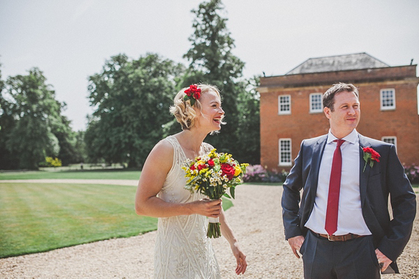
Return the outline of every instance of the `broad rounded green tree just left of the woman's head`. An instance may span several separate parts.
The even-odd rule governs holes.
[[[131,60],[112,56],[101,73],[89,77],[89,99],[96,111],[84,140],[89,157],[139,167],[172,120],[168,108],[184,66],[157,54]]]

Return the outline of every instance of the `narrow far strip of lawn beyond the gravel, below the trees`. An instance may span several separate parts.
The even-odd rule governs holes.
[[[140,179],[141,172],[120,169],[0,172],[0,181],[8,179]]]

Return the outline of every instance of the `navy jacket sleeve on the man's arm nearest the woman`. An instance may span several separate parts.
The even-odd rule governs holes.
[[[295,158],[294,166],[286,177],[282,193],[282,220],[284,222],[285,239],[302,235],[300,228],[300,219],[298,212],[300,210],[300,190],[302,189],[302,155],[304,141],[300,146],[300,152]]]

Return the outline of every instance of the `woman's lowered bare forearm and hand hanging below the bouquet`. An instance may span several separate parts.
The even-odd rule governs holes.
[[[227,239],[228,243],[230,243],[230,248],[236,258],[237,267],[235,269],[235,273],[237,273],[237,275],[240,273],[244,274],[244,271],[247,269],[246,255],[242,252],[239,241],[237,241],[235,235],[233,234],[233,230],[230,225],[228,225],[226,215],[223,210],[221,210],[220,214],[220,229],[221,235],[223,235]]]

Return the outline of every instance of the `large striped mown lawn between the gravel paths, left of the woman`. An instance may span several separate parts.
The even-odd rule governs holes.
[[[0,257],[156,229],[135,214],[133,186],[0,183]]]

